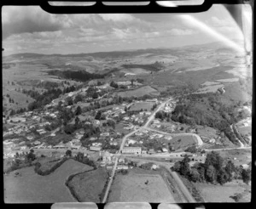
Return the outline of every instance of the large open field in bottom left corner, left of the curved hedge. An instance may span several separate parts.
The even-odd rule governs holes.
[[[4,201],[6,203],[53,203],[76,201],[65,185],[67,178],[78,172],[91,170],[78,161],[65,161],[55,172],[40,176],[34,167],[18,170],[4,176]]]

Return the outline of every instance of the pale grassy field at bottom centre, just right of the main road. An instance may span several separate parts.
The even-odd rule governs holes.
[[[148,184],[145,184],[148,181]],[[160,174],[133,168],[126,175],[118,174],[108,201],[175,202],[172,193]]]

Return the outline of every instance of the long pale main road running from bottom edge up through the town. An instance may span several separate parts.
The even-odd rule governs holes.
[[[117,167],[117,164],[118,164],[118,155],[121,154],[121,151],[123,150],[124,146],[125,146],[125,141],[128,137],[131,137],[132,134],[134,133],[137,133],[138,131],[142,130],[143,128],[146,128],[148,127],[148,125],[150,124],[151,121],[154,120],[154,116],[155,116],[155,113],[158,112],[161,108],[163,108],[167,102],[169,102],[171,99],[167,99],[165,102],[163,102],[162,104],[160,104],[156,110],[154,110],[154,112],[151,114],[151,116],[148,117],[148,121],[143,125],[143,127],[139,127],[137,130],[134,130],[133,132],[131,133],[128,133],[127,135],[125,135],[125,137],[123,138],[122,140],[122,143],[120,144],[120,148],[119,148],[119,151],[117,153],[117,156],[116,156],[116,159],[114,161],[114,165],[113,165],[113,170],[112,170],[112,173],[111,173],[111,176],[109,178],[109,181],[108,181],[108,187],[106,189],[106,192],[105,192],[105,195],[103,197],[103,200],[102,200],[102,203],[105,203],[107,201],[107,198],[108,198],[108,193],[109,193],[109,189],[113,183],[113,177],[114,177],[114,173],[116,171],[116,167]]]

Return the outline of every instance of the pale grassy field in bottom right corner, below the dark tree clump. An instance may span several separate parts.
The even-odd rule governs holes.
[[[206,202],[235,202],[230,196],[236,193],[244,195],[242,201],[251,201],[251,186],[242,183],[241,180],[236,180],[223,186],[201,183],[196,183],[195,185],[201,191],[201,195]]]

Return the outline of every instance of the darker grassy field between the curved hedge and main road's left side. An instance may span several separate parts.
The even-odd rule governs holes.
[[[100,203],[100,196],[108,173],[102,168],[79,173],[75,175],[68,183],[68,187],[72,188],[74,193],[79,198],[79,201],[91,201]]]

